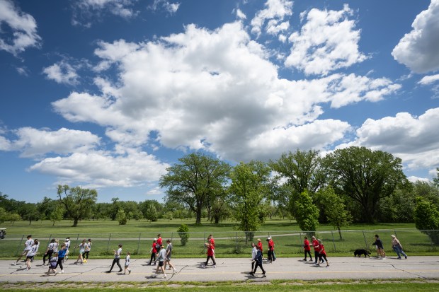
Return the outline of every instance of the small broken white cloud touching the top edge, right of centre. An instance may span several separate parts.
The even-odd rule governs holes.
[[[257,36],[261,35],[265,26],[266,33],[277,35],[280,31],[290,28],[288,21],[283,21],[285,16],[292,15],[292,1],[287,0],[267,0],[266,8],[258,11],[256,16],[251,20],[251,33]]]

